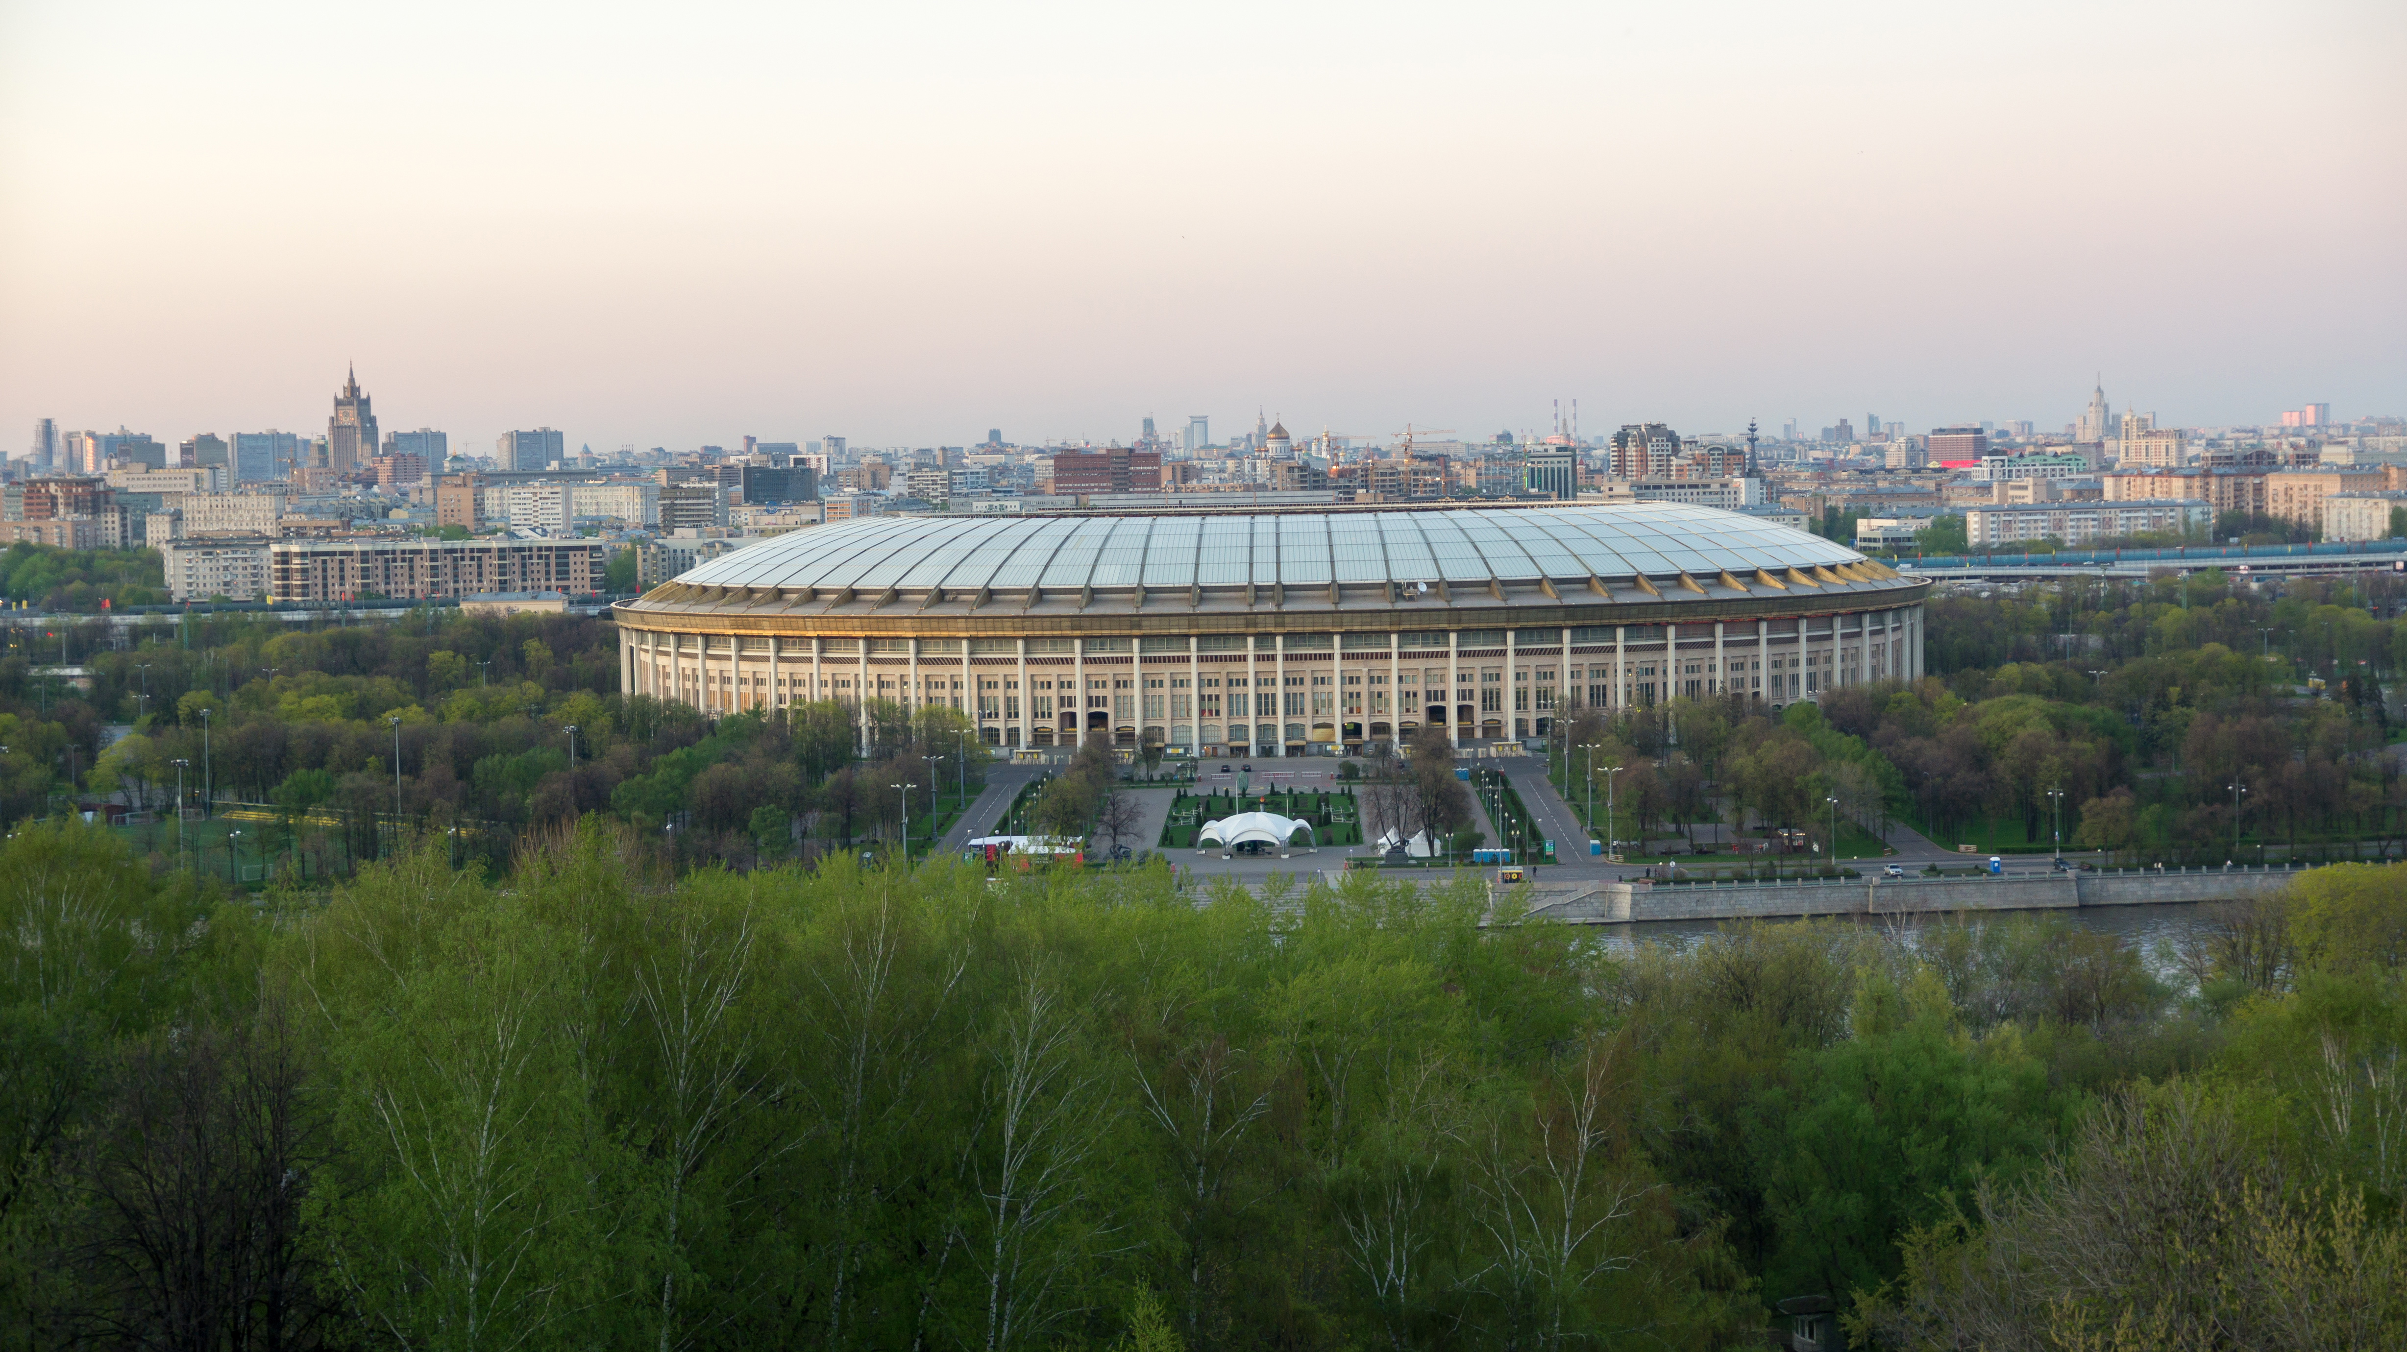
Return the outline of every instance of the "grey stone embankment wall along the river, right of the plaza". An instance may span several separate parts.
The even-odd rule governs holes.
[[[2267,897],[2303,868],[2188,873],[2024,873],[2000,878],[1846,878],[1832,883],[1533,883],[1528,914],[1569,924],[1646,919],[2044,912]],[[1500,893],[1502,900],[1502,893]]]

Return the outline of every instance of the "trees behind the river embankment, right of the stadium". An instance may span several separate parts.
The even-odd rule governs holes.
[[[2407,782],[2385,695],[2407,664],[2400,582],[2222,573],[1933,597],[1916,686],[1825,690],[1767,714],[1740,700],[1569,710],[1567,794],[1620,765],[1632,828],[1745,820],[1820,835],[1827,799],[1940,842],[2106,849],[2130,864],[2407,852]],[[1598,751],[1574,751],[1586,748]],[[2234,791],[2239,784],[2239,791]],[[2056,796],[2060,794],[2060,799]],[[2234,820],[2234,813],[2239,820]]]

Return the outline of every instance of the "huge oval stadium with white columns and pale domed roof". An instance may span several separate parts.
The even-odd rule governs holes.
[[[703,712],[956,707],[987,746],[1326,755],[1574,702],[1916,678],[1930,582],[1678,503],[910,515],[802,529],[614,606],[623,690]]]

